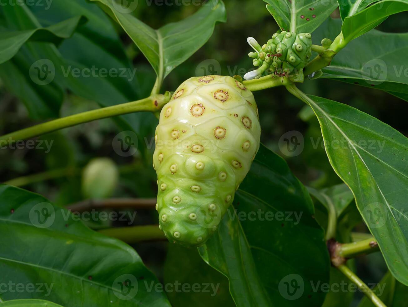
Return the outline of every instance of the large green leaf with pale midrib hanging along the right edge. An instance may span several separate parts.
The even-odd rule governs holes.
[[[309,98],[330,164],[353,191],[390,271],[408,284],[408,139],[348,105]]]

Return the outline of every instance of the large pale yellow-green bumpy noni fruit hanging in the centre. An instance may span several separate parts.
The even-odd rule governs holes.
[[[203,244],[217,229],[259,149],[253,94],[229,76],[193,77],[160,113],[153,167],[160,228],[171,242]]]

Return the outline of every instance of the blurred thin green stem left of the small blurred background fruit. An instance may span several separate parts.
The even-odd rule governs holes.
[[[58,168],[55,170],[48,170],[47,172],[17,177],[4,182],[4,184],[7,184],[9,186],[27,186],[28,184],[33,184],[35,182],[42,182],[50,179],[79,175],[80,172],[81,170],[75,167]]]

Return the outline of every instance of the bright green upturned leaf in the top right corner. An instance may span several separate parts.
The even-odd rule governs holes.
[[[345,43],[374,29],[388,16],[408,11],[408,0],[348,0],[347,2],[338,0],[338,2],[343,19],[341,31]]]

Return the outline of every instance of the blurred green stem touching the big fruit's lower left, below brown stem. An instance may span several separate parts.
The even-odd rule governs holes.
[[[159,225],[109,228],[98,232],[129,244],[141,241],[166,240],[163,231],[159,229]]]

